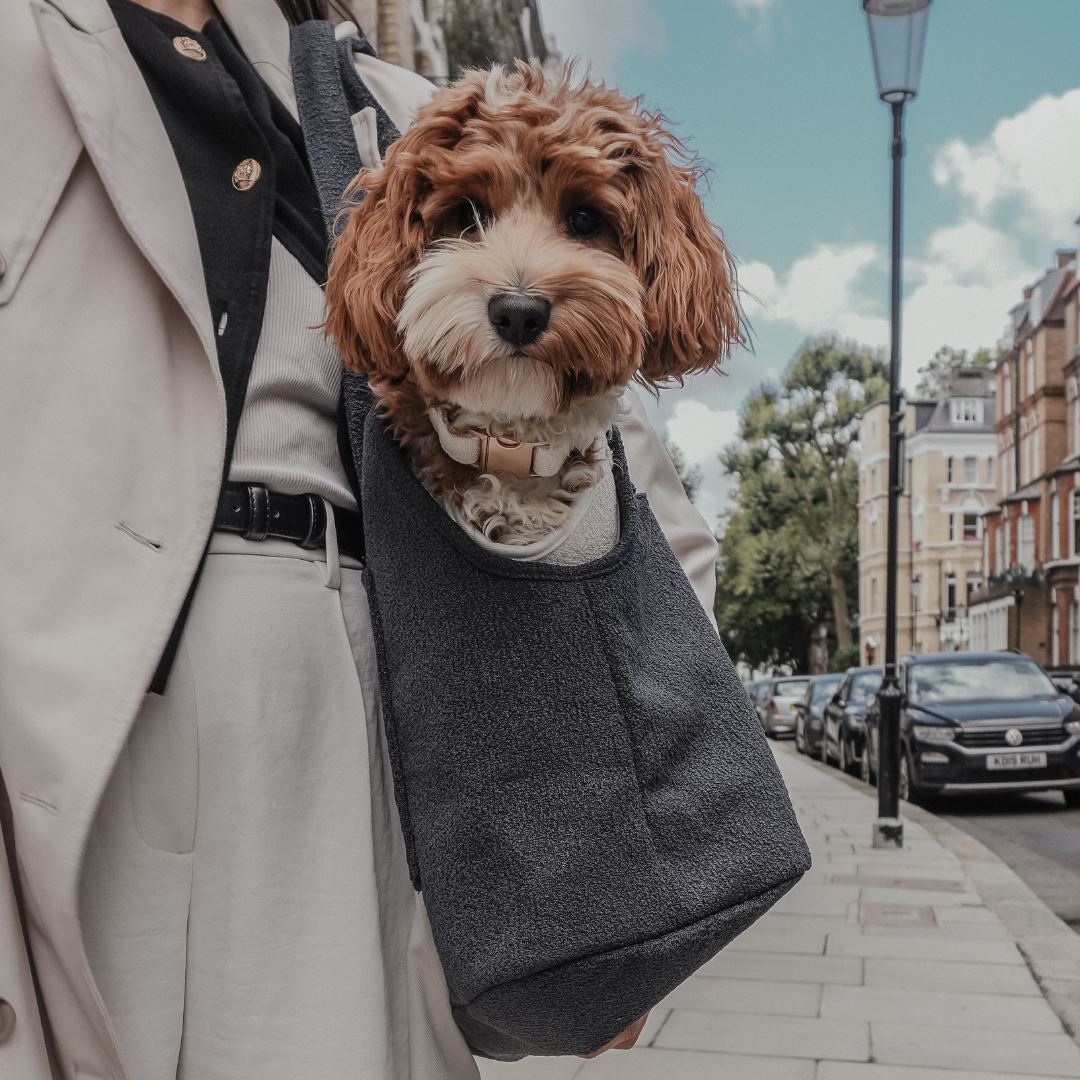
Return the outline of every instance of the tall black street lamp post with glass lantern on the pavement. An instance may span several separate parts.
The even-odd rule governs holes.
[[[886,555],[885,677],[878,720],[875,848],[901,848],[900,679],[896,675],[896,525],[901,487],[900,308],[903,267],[904,106],[918,93],[930,0],[863,0],[878,96],[892,109],[892,278],[889,291],[889,539]]]

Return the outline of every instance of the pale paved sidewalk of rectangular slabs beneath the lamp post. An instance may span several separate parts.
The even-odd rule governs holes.
[[[875,793],[774,750],[813,869],[652,1012],[634,1050],[481,1061],[483,1080],[1080,1078],[1040,989],[1076,1031],[1080,936],[919,808],[904,808],[903,850],[875,851]]]

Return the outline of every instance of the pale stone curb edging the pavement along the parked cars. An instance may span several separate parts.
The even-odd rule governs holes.
[[[777,748],[807,761],[864,795],[877,792],[876,787],[864,784],[855,777],[807,754],[799,754],[794,744],[788,748],[787,743],[777,743]],[[986,906],[1013,935],[1039,989],[1057,1013],[1065,1030],[1080,1043],[1080,934],[1054,915],[1012,867],[963,829],[912,802],[901,804],[901,815],[917,822],[943,848],[957,856]],[[866,828],[868,838],[869,822]]]

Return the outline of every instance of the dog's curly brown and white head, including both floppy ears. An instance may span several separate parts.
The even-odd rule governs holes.
[[[617,91],[538,67],[437,92],[356,180],[327,287],[346,362],[391,413],[537,417],[716,366],[734,278],[680,152]]]

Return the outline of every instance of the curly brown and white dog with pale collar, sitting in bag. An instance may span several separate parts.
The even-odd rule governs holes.
[[[639,100],[518,62],[436,91],[350,187],[366,194],[335,244],[327,332],[488,544],[544,557],[602,488],[610,526],[625,388],[716,369],[742,340],[700,176]]]

